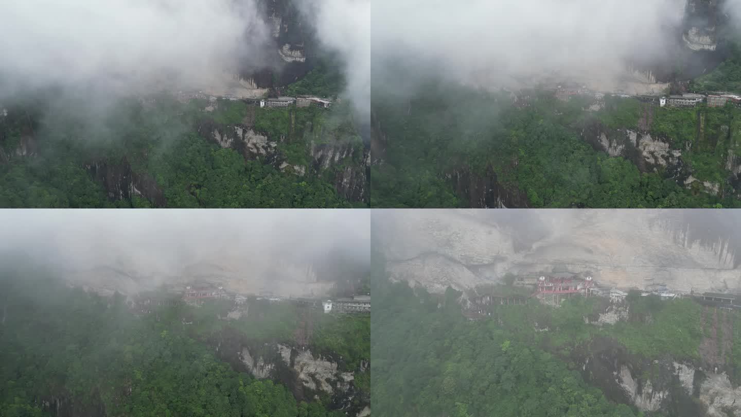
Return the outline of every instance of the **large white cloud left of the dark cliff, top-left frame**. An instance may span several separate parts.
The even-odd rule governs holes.
[[[252,0],[3,1],[0,83],[147,91],[214,82],[269,39]],[[0,97],[1,98],[1,97]]]

